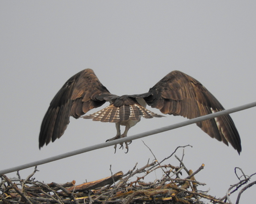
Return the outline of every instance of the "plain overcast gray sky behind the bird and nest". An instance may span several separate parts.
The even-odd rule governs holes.
[[[44,114],[68,78],[91,68],[117,95],[147,92],[172,70],[200,81],[226,108],[256,101],[255,1],[1,1],[0,2],[0,169],[11,168],[91,146],[116,135],[115,124],[71,119],[65,134],[38,149]],[[105,107],[105,106],[104,106]],[[150,110],[160,113],[157,109]],[[93,112],[89,112],[93,113]],[[223,197],[238,182],[234,168],[256,172],[255,113],[231,114],[242,140],[239,156],[195,124],[143,138],[158,160],[177,146],[184,163]],[[178,116],[144,119],[134,135],[186,120]],[[177,152],[181,157],[182,149]],[[153,160],[141,140],[129,153],[112,147],[38,166],[37,180],[77,184],[127,172]],[[166,163],[179,165],[174,158]],[[33,168],[22,170],[27,177]],[[161,178],[161,171],[148,180]],[[15,173],[7,174],[15,176]],[[255,180],[255,178],[253,179]],[[147,179],[146,179],[147,181]],[[241,203],[255,202],[253,186]],[[231,197],[235,199],[235,197]],[[232,200],[235,202],[235,200]]]

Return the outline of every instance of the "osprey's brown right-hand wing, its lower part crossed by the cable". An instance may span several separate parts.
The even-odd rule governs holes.
[[[180,71],[170,72],[148,93],[137,97],[144,98],[149,106],[158,108],[164,114],[181,115],[188,119],[224,110],[200,82]],[[240,136],[229,115],[198,122],[196,125],[212,138],[226,145],[229,142],[240,154]]]

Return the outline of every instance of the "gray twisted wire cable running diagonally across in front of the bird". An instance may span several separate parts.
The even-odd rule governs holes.
[[[196,123],[196,122],[200,122],[200,121],[203,121],[203,120],[208,120],[208,119],[216,118],[218,116],[222,116],[222,115],[242,111],[242,110],[245,110],[245,109],[248,109],[248,108],[252,108],[254,106],[256,106],[256,101],[252,102],[252,103],[249,103],[249,104],[245,104],[243,106],[230,108],[228,110],[223,110],[223,111],[220,111],[220,112],[211,113],[209,115],[204,115],[204,116],[201,116],[201,117],[198,117],[198,118],[194,118],[194,119],[186,120],[186,121],[179,122],[179,123],[176,123],[176,124],[173,124],[173,125],[165,126],[163,128],[157,128],[157,129],[150,130],[150,131],[147,131],[147,132],[144,132],[144,133],[140,133],[140,134],[120,138],[120,139],[117,139],[117,140],[114,140],[114,141],[104,142],[104,143],[92,145],[92,146],[89,146],[89,147],[85,147],[85,148],[82,148],[82,149],[77,149],[75,151],[67,152],[67,153],[60,154],[60,155],[57,155],[57,156],[54,156],[54,157],[49,157],[49,158],[42,159],[42,160],[39,160],[39,161],[36,161],[36,162],[31,162],[31,163],[28,163],[28,164],[23,164],[23,165],[20,165],[20,166],[9,168],[9,169],[4,169],[4,170],[0,171],[0,175],[1,174],[6,174],[6,173],[11,173],[11,172],[14,172],[14,171],[19,171],[19,170],[22,170],[22,169],[27,169],[29,167],[33,167],[33,166],[37,166],[37,165],[41,165],[41,164],[46,164],[46,163],[53,162],[53,161],[63,159],[63,158],[66,158],[66,157],[71,157],[71,156],[74,156],[74,155],[77,155],[77,154],[82,154],[84,152],[89,152],[89,151],[92,151],[92,150],[95,150],[95,149],[109,147],[109,146],[112,146],[112,145],[115,145],[115,144],[119,144],[120,142],[128,142],[128,141],[136,140],[136,139],[146,137],[146,136],[149,136],[149,135],[155,135],[157,133],[162,133],[162,132],[165,132],[165,131],[168,131],[168,130],[180,128],[180,127],[187,126],[187,125],[190,125],[190,124],[193,124],[193,123]]]

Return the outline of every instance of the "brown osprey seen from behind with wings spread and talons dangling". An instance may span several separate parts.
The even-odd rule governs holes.
[[[117,134],[107,141],[126,137],[128,130],[141,117],[163,117],[146,109],[147,104],[164,114],[180,115],[188,119],[224,110],[200,82],[180,71],[170,72],[147,93],[117,96],[100,83],[92,69],[84,69],[68,79],[52,99],[41,125],[39,149],[63,135],[70,116],[77,119],[106,101],[110,102],[109,106],[83,118],[116,123]],[[123,134],[120,125],[125,126]],[[229,142],[240,154],[240,136],[229,115],[197,122],[196,125],[212,138],[226,145]],[[125,145],[128,152],[128,143],[125,142]]]

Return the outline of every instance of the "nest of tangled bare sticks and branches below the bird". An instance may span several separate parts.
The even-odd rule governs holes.
[[[180,148],[177,147],[176,150]],[[137,164],[134,168],[123,174],[122,171],[115,173],[104,179],[97,181],[83,183],[81,185],[75,185],[75,181],[68,182],[65,184],[50,183],[46,184],[43,182],[35,181],[32,176],[35,174],[37,169],[30,174],[26,179],[21,179],[19,172],[17,172],[18,179],[9,179],[5,175],[1,175],[2,181],[0,184],[0,204],[2,203],[179,203],[179,204],[202,204],[204,203],[200,199],[204,198],[209,200],[208,203],[231,203],[229,195],[238,190],[241,186],[245,185],[250,177],[244,175],[244,180],[231,186],[228,189],[227,195],[223,198],[216,199],[215,197],[207,194],[208,192],[202,192],[197,190],[197,187],[206,185],[198,182],[195,179],[195,175],[204,168],[202,164],[196,171],[188,170],[182,162],[182,159],[178,158],[179,166],[173,166],[171,164],[161,165],[163,161],[173,156],[176,150],[169,157],[165,158],[161,162],[155,160],[151,164],[146,164],[140,169],[136,169]],[[143,182],[145,176],[152,171],[161,168],[163,176],[160,180],[154,182]],[[182,176],[181,170],[185,170],[188,174],[185,178]],[[240,169],[241,170],[241,169]],[[110,166],[111,171],[111,166]],[[142,177],[137,177],[134,181],[129,181],[134,175],[143,173]],[[253,174],[254,175],[254,174]],[[17,183],[15,183],[17,182]],[[236,203],[239,203],[241,193],[256,184],[256,181],[245,186],[240,193]],[[18,187],[19,186],[19,187]],[[232,192],[231,189],[235,188]],[[230,192],[230,193],[229,193]]]

